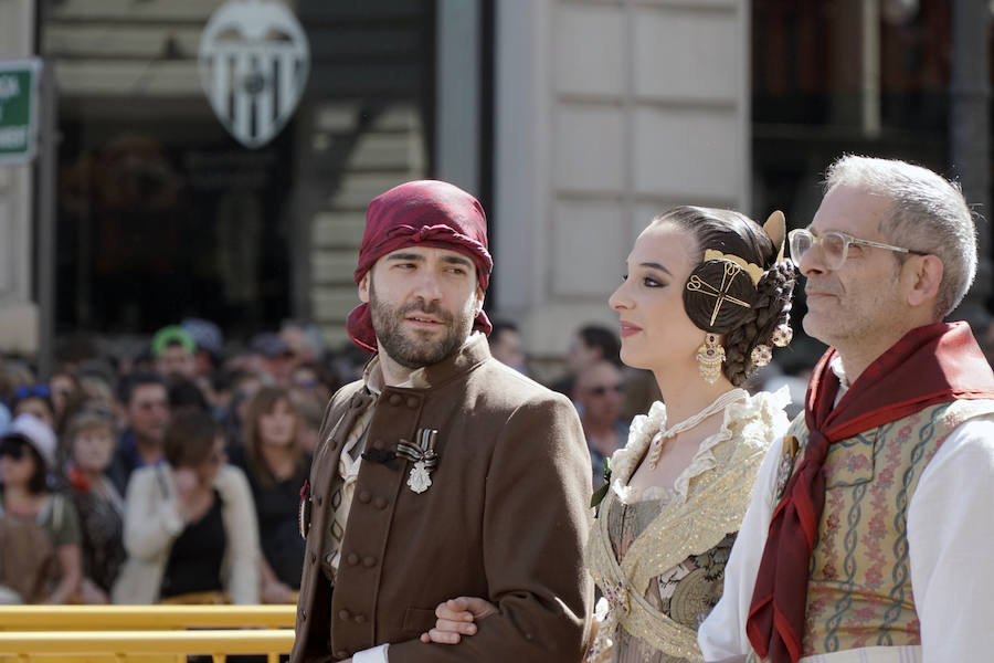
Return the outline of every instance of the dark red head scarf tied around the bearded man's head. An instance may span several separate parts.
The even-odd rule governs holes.
[[[458,187],[419,180],[373,198],[366,212],[356,284],[378,260],[404,246],[432,246],[462,253],[476,265],[479,287],[487,290],[494,269],[487,251],[487,215],[479,201]],[[349,314],[346,327],[352,343],[371,352],[377,351],[369,304],[357,306]],[[487,314],[480,311],[473,328],[489,334]]]

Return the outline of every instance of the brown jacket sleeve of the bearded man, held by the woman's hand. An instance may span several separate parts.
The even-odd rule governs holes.
[[[484,499],[487,598],[498,613],[457,645],[392,643],[390,663],[581,659],[592,583],[583,568],[590,528],[590,455],[564,397],[518,408],[499,435]]]

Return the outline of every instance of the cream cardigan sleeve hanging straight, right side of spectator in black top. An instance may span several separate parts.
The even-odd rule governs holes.
[[[228,593],[232,603],[258,603],[258,523],[245,474],[224,465],[214,482],[224,501],[224,535],[228,538]]]

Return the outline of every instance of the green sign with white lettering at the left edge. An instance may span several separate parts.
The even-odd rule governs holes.
[[[41,60],[0,62],[0,164],[34,158]]]

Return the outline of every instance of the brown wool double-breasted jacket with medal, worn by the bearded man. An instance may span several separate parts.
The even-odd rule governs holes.
[[[582,566],[590,456],[568,399],[490,358],[486,339],[430,366],[429,389],[388,387],[367,448],[438,431],[421,494],[410,461],[362,461],[332,589],[320,555],[341,445],[368,402],[353,382],[331,399],[310,472],[310,525],[290,663],[337,661],[390,643],[390,663],[575,663],[592,587]],[[440,602],[484,597],[499,612],[457,645],[417,638]]]

